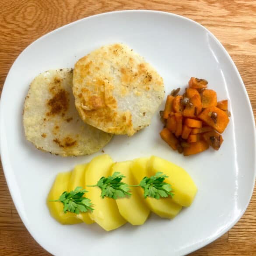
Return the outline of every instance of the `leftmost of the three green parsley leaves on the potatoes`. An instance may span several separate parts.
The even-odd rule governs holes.
[[[83,197],[84,193],[86,193],[85,189],[82,187],[76,187],[75,190],[71,190],[70,192],[63,192],[59,199],[50,200],[51,202],[60,201],[63,203],[63,212],[67,213],[67,211],[79,214],[80,212],[88,212],[93,211],[92,203],[89,198]]]

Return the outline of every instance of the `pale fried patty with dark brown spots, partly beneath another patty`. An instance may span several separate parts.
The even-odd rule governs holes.
[[[92,154],[112,138],[81,120],[72,79],[72,69],[49,70],[30,84],[23,114],[25,136],[42,151],[61,156]]]

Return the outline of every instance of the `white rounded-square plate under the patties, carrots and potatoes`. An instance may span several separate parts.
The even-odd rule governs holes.
[[[91,50],[123,42],[157,68],[166,92],[185,88],[191,76],[209,81],[218,99],[228,98],[231,121],[219,151],[183,157],[159,137],[158,113],[133,137],[116,136],[105,147],[114,161],[152,154],[182,166],[198,186],[191,207],[172,221],[151,218],[109,233],[97,224],[63,226],[46,207],[56,174],[96,154],[61,158],[35,149],[24,137],[22,109],[32,79],[45,70],[73,67]],[[163,109],[164,103],[160,109]],[[4,173],[22,221],[37,242],[56,256],[181,256],[228,231],[244,213],[255,181],[255,124],[244,84],[221,43],[187,18],[156,11],[118,11],[76,21],[33,42],[14,62],[0,102]],[[98,153],[102,154],[102,153]]]

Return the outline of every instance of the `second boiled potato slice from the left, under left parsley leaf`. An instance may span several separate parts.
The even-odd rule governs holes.
[[[68,183],[68,191],[74,190],[76,187],[82,187],[84,189],[84,173],[87,166],[88,164],[75,166]],[[87,193],[85,193],[84,196],[87,197]],[[77,218],[81,219],[86,224],[94,223],[94,221],[91,220],[88,212],[77,214]]]

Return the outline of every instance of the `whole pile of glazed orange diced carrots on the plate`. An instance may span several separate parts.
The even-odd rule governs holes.
[[[229,122],[228,100],[218,102],[216,91],[208,89],[207,84],[205,79],[191,77],[185,93],[179,95],[180,88],[173,90],[160,111],[164,124],[161,138],[184,156],[209,147],[219,150],[223,142],[220,133]]]

